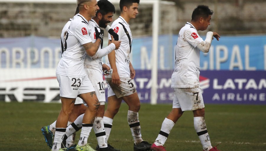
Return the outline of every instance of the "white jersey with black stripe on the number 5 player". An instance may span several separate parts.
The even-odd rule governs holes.
[[[114,32],[116,32],[119,36],[119,40],[121,41],[121,45],[118,50],[115,50],[116,53],[116,67],[120,77],[130,77],[130,70],[129,70],[129,62],[130,62],[130,45],[129,45],[129,38],[125,33],[123,26],[120,24],[122,23],[126,30],[129,33],[131,44],[132,44],[132,34],[129,28],[129,24],[126,23],[123,17],[119,16],[117,20],[115,20],[111,26]],[[111,40],[111,35],[108,34],[109,40]],[[108,63],[110,66],[110,64]],[[111,66],[110,66],[111,67]],[[109,75],[110,76],[110,75]],[[106,76],[108,77],[108,76]]]

